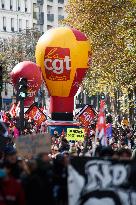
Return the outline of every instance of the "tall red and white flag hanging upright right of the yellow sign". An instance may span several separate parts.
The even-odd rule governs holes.
[[[100,110],[99,110],[98,121],[96,125],[95,145],[96,145],[97,138],[101,140],[101,145],[107,146],[105,101],[104,100],[101,100],[100,102]]]

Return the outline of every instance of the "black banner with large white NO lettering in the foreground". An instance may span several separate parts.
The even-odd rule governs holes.
[[[135,205],[134,161],[74,157],[68,166],[69,205]]]

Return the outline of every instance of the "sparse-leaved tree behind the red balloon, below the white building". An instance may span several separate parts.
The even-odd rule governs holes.
[[[7,39],[0,39],[0,65],[4,70],[4,80],[8,81],[8,74],[19,62],[35,62],[35,46],[40,35],[37,30],[27,29]]]

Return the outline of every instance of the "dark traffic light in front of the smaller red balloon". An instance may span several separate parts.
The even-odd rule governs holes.
[[[27,97],[27,79],[20,78],[18,82],[18,97],[26,98]]]

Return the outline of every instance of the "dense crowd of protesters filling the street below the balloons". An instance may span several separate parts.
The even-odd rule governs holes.
[[[7,115],[8,116],[8,115]],[[0,205],[66,205],[67,165],[72,157],[99,157],[116,160],[136,159],[136,132],[125,125],[112,127],[108,146],[95,141],[95,124],[90,126],[84,142],[67,141],[66,133],[51,136],[50,153],[39,153],[31,159],[22,158],[15,148],[15,138],[20,137],[18,119],[7,118],[8,136],[0,151]],[[44,133],[46,126],[36,126],[25,117],[23,134]]]

